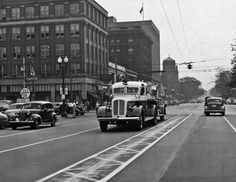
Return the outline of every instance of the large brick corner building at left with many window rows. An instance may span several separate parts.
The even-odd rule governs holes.
[[[1,98],[15,100],[25,85],[37,100],[61,100],[59,57],[68,58],[66,99],[93,97],[108,73],[107,11],[94,0],[0,3]]]

